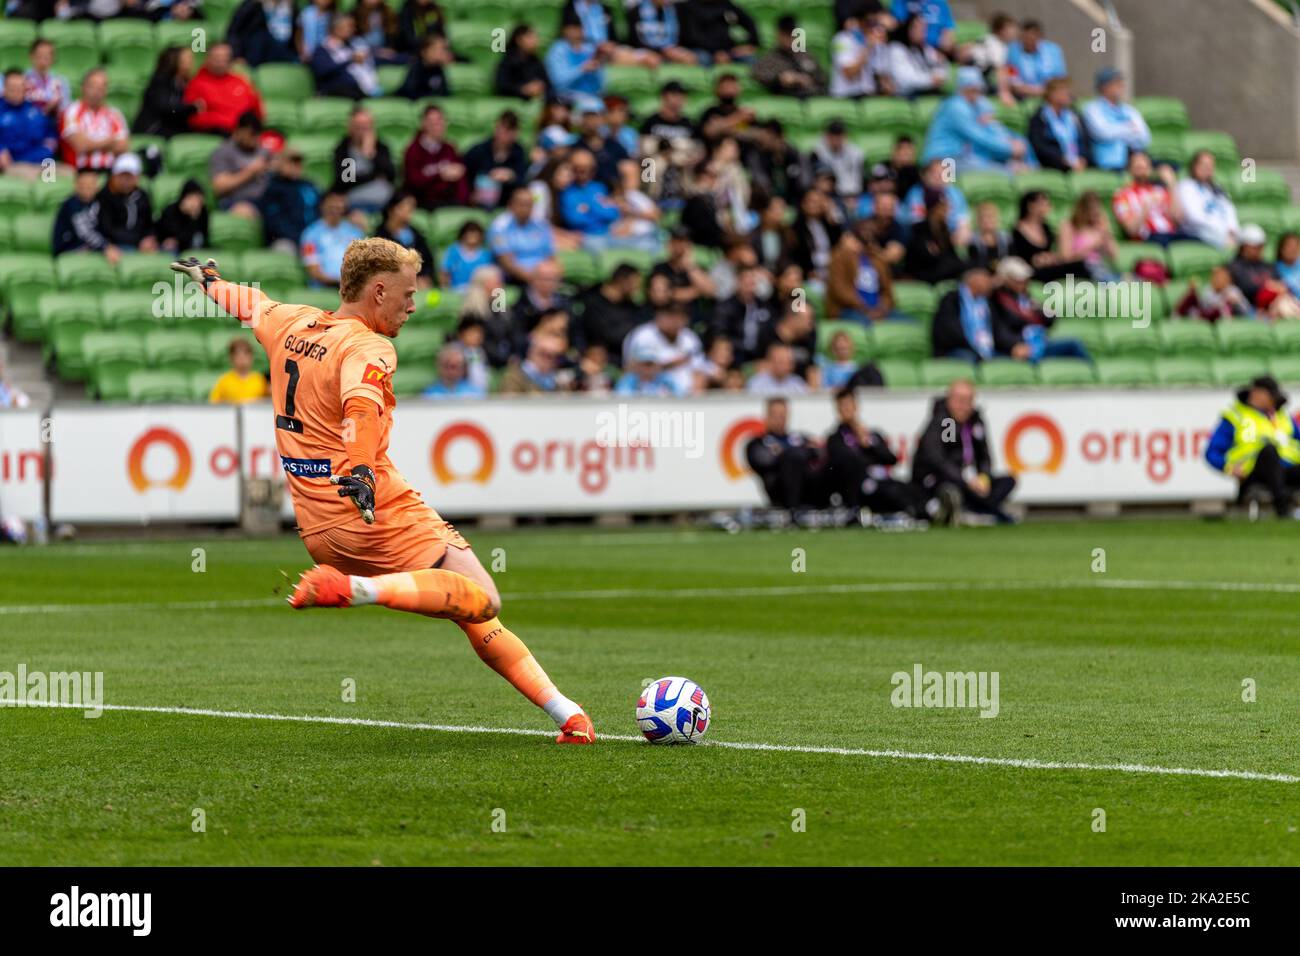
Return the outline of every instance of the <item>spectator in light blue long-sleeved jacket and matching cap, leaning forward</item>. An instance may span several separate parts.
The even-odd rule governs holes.
[[[957,94],[944,100],[930,125],[923,163],[952,159],[958,172],[1011,172],[1034,166],[1028,142],[997,121],[984,96],[984,74],[974,66],[957,70]]]

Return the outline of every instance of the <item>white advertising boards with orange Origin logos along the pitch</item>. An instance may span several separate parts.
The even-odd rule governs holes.
[[[906,477],[932,394],[861,398]],[[979,397],[994,467],[1018,475],[1015,499],[1028,505],[1232,497],[1234,483],[1202,458],[1230,401],[1219,389]],[[749,395],[403,399],[390,453],[425,499],[452,516],[738,507],[763,503],[744,458],[762,410]],[[48,483],[53,522],[237,520],[243,479],[281,473],[268,403],[56,406],[48,442],[44,419],[0,412],[3,514],[39,515]],[[832,420],[828,395],[792,401],[797,431],[822,436]],[[650,445],[618,444],[627,440]]]

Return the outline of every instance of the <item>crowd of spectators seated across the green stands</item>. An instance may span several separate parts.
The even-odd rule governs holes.
[[[199,9],[183,0],[10,7],[38,18],[185,20]],[[400,9],[360,0],[348,12],[334,0],[244,0],[202,65],[185,47],[161,52],[134,117],[108,101],[104,69],[64,77],[55,44],[38,39],[30,69],[4,77],[0,172],[38,179],[53,164],[74,178],[55,222],[56,254],[116,263],[202,248],[217,212],[256,224],[265,246],[296,252],[322,289],[338,285],[355,238],[419,250],[422,286],[464,295],[432,397],[480,395],[490,381],[507,392],[634,395],[881,384],[852,337],[827,343],[819,333],[827,319],[915,321],[898,307],[900,282],[940,290],[935,356],[1086,360],[1080,342],[1050,337],[1035,284],[1119,278],[1134,268],[1117,261],[1121,241],[1200,242],[1235,255],[1188,289],[1179,315],[1300,315],[1300,238],[1284,234],[1271,260],[1264,256],[1264,232],[1239,221],[1217,179],[1232,170],[1218,170],[1212,152],[1182,169],[1153,163],[1150,130],[1119,72],[1097,72],[1079,109],[1080,82],[1037,21],[997,14],[979,42],[958,43],[945,0],[833,8],[828,59],[819,60],[803,43],[802,10],[764,36],[734,0],[630,0],[618,18],[608,4],[568,0],[549,46],[528,22],[503,31],[491,92],[515,105],[489,120],[481,139],[459,142],[447,100],[425,103],[458,96],[460,55],[437,0]],[[337,130],[333,181],[313,181],[294,139],[268,118],[251,68],[281,62],[306,65],[316,95],[355,103]],[[714,74],[703,109],[688,108],[676,79],[658,85],[656,108],[644,114],[607,90],[614,68],[670,65],[729,70]],[[400,150],[378,134],[368,105],[382,94],[380,70],[393,66],[406,72],[396,95],[421,103]],[[820,139],[801,150],[779,118],[745,104],[742,79],[776,96],[840,98],[845,116],[827,114]],[[863,98],[937,105],[923,142],[900,134],[888,157],[872,160],[848,108]],[[1022,103],[1036,104],[1023,135],[998,118]],[[133,150],[131,135],[190,133],[221,137],[207,179],[155,208],[142,177],[159,173],[160,159]],[[1014,215],[968,202],[959,185],[1036,169],[1113,170],[1124,182],[1109,208],[1096,191],[1065,209],[1030,190]],[[417,217],[454,208],[485,221],[432,247]],[[559,265],[575,250],[628,260],[580,284]],[[238,394],[233,382],[213,392]]]

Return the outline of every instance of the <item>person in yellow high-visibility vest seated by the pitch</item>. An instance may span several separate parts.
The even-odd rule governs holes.
[[[1205,449],[1212,468],[1240,481],[1242,499],[1266,494],[1279,516],[1292,515],[1291,493],[1300,488],[1300,428],[1286,403],[1273,376],[1256,378],[1236,393]]]

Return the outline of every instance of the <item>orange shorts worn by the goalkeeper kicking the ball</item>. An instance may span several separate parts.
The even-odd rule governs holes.
[[[380,575],[420,571],[442,563],[448,548],[469,548],[448,522],[433,509],[426,518],[399,528],[365,524],[360,516],[337,528],[303,536],[312,561],[343,574]]]

